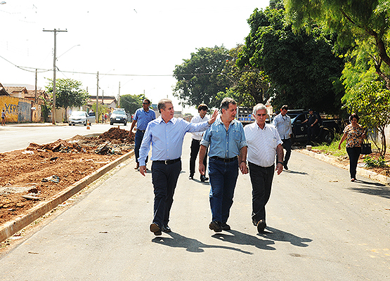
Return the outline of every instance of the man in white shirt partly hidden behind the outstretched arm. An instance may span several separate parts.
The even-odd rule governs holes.
[[[197,107],[197,111],[199,112],[199,115],[193,117],[191,119],[191,123],[200,123],[209,120],[209,118],[206,116],[207,110],[209,108],[204,103],[200,104]],[[193,133],[193,141],[191,142],[191,153],[190,153],[190,176],[188,177],[190,180],[194,179],[195,174],[195,161],[196,157],[199,154],[199,148],[200,148],[200,141],[202,141],[204,131]],[[204,166],[207,166],[207,152],[203,160]],[[200,181],[208,181],[209,178],[206,177],[206,174],[200,175]]]

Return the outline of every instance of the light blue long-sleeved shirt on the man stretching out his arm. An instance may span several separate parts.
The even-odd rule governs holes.
[[[204,131],[209,126],[207,121],[195,124],[175,117],[170,119],[168,123],[165,123],[161,116],[151,121],[143,135],[139,150],[138,162],[140,166],[145,166],[150,143],[152,143],[152,161],[177,159],[181,157],[184,135],[187,132]]]

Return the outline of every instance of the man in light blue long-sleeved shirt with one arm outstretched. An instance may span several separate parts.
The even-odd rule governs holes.
[[[181,172],[181,151],[183,138],[187,132],[204,131],[209,128],[218,111],[215,110],[209,121],[190,123],[174,117],[174,105],[171,100],[163,99],[158,103],[161,116],[148,124],[140,148],[139,171],[145,176],[145,160],[152,144],[152,183],[155,193],[153,222],[150,231],[155,235],[171,232],[168,226],[169,211],[174,202],[174,191]]]

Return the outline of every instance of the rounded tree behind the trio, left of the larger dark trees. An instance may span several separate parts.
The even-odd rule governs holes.
[[[175,67],[174,96],[183,105],[206,103],[209,107],[218,107],[216,94],[226,91],[231,83],[226,75],[221,74],[229,57],[224,46],[199,48],[196,53],[191,53],[190,59],[184,59]]]

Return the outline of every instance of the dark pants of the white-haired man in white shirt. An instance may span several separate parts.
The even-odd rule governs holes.
[[[249,162],[249,176],[252,183],[252,222],[266,219],[266,204],[271,196],[271,185],[275,165],[269,167],[257,166]]]

